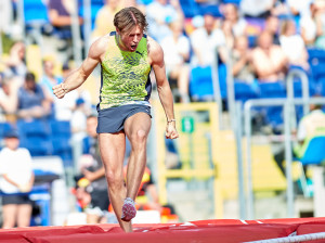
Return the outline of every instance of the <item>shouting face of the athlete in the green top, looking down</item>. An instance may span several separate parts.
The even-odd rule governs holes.
[[[120,46],[125,51],[134,52],[138,48],[138,44],[143,37],[143,29],[135,25],[131,30],[121,33],[117,30],[120,36]]]

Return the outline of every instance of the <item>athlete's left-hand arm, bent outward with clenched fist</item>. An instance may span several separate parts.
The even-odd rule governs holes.
[[[98,39],[90,47],[89,54],[82,62],[81,66],[73,71],[64,80],[64,82],[53,87],[53,92],[58,99],[64,98],[67,92],[77,89],[87,80],[96,65],[101,62],[101,56],[106,50],[105,47],[106,38],[102,37]]]

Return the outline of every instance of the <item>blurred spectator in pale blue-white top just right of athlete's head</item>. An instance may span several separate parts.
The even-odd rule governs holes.
[[[146,7],[146,17],[148,35],[160,42],[171,34],[168,24],[174,20],[183,21],[184,13],[179,0],[154,0]]]

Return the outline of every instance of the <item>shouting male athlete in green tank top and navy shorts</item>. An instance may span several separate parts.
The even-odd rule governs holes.
[[[95,66],[102,65],[99,112],[99,143],[108,183],[108,194],[120,227],[132,232],[136,196],[146,166],[146,142],[151,129],[151,69],[155,72],[160,102],[167,118],[166,138],[176,139],[172,93],[166,78],[160,46],[144,31],[145,16],[136,8],[120,10],[114,17],[116,33],[98,39],[81,66],[53,92],[63,98],[81,86]],[[126,136],[131,143],[127,183],[123,180]]]

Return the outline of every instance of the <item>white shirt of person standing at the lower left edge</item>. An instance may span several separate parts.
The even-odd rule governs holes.
[[[26,184],[32,175],[31,156],[28,150],[18,148],[12,151],[4,148],[0,152],[0,189],[5,193],[17,193],[20,190],[3,178],[6,175],[17,184]]]

